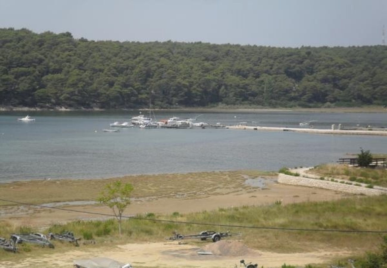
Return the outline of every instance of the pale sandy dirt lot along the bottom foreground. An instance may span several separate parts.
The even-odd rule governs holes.
[[[263,251],[250,250],[248,254],[240,256],[216,256],[199,255],[197,246],[167,243],[126,244],[117,248],[88,249],[87,251],[76,249],[66,253],[50,254],[42,258],[30,258],[22,263],[0,262],[2,268],[38,268],[38,267],[72,267],[74,259],[93,257],[108,257],[131,263],[134,267],[206,267],[206,268],[234,268],[240,267],[240,260],[247,263],[258,263],[259,267],[280,267],[285,262],[291,265],[305,266],[308,263],[322,263],[328,261],[332,256],[345,256],[350,253],[338,251],[318,251],[309,253],[280,254]]]

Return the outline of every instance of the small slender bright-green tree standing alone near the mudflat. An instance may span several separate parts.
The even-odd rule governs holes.
[[[125,208],[130,204],[130,193],[133,186],[130,183],[123,184],[120,180],[112,182],[105,186],[105,189],[99,194],[98,202],[105,204],[113,210],[118,220],[118,230],[121,235],[121,220]]]

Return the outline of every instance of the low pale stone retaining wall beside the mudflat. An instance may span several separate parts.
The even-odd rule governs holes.
[[[331,182],[328,180],[310,179],[305,177],[296,177],[279,173],[278,182],[283,184],[298,185],[298,186],[310,186],[324,188],[334,191],[349,192],[352,194],[366,194],[368,196],[374,196],[379,194],[386,194],[385,191],[370,189],[361,186],[353,186],[349,184],[343,184],[339,182]]]

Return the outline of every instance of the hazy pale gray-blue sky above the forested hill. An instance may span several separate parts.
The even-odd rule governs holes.
[[[380,45],[384,24],[387,0],[0,0],[0,28],[89,40]]]

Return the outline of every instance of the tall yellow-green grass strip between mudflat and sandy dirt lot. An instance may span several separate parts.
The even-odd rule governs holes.
[[[128,242],[164,241],[166,237],[172,235],[174,230],[187,235],[198,234],[202,230],[222,232],[229,230],[234,233],[243,233],[241,239],[249,247],[262,251],[295,253],[324,249],[332,250],[334,248],[345,248],[348,251],[354,252],[372,251],[380,244],[381,235],[280,231],[236,227],[217,228],[210,225],[156,222],[153,219],[256,227],[342,230],[387,229],[387,196],[359,196],[339,201],[279,204],[281,203],[277,202],[267,206],[220,208],[215,211],[203,211],[200,213],[156,215],[154,218],[147,218],[146,215],[137,215],[144,218],[144,220],[136,218],[123,220],[122,236],[118,235],[118,223],[113,219],[105,221],[75,221],[64,225],[57,224],[40,232],[71,230],[77,237],[83,236],[85,239],[86,237],[93,237],[97,242],[96,245],[100,246],[106,244],[125,244]],[[2,237],[9,237],[16,230],[19,229],[9,224],[0,223],[0,236]],[[37,230],[32,231],[36,232]],[[187,242],[191,242],[191,240],[187,240]],[[192,242],[196,243],[197,241],[194,240]],[[17,255],[19,256],[17,258],[27,256],[27,252]],[[0,258],[2,256],[3,254],[0,253]]]

